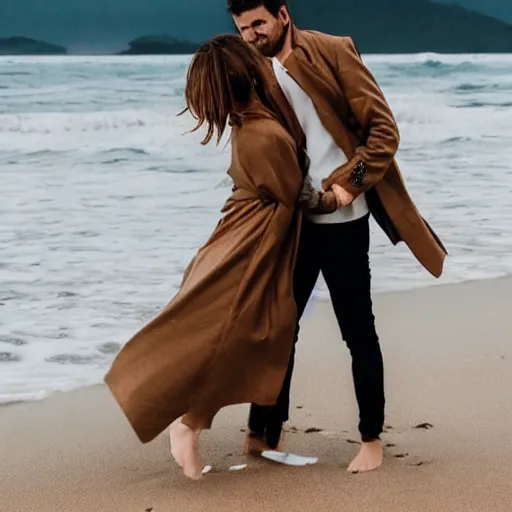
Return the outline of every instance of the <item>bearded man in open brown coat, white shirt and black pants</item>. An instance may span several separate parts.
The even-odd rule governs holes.
[[[352,39],[298,30],[286,0],[228,0],[228,11],[244,40],[272,60],[306,137],[313,186],[334,191],[340,205],[333,213],[306,214],[294,294],[300,318],[322,272],[352,356],[359,407],[362,443],[348,471],[370,471],[383,459],[385,395],[370,292],[369,216],[435,277],[446,250],[407,193],[394,161],[398,128]],[[293,365],[294,354],[277,404],[251,407],[249,454],[278,447]]]

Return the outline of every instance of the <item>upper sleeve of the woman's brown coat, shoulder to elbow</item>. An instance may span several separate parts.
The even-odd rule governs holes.
[[[270,129],[248,131],[238,142],[239,161],[263,201],[296,208],[302,173],[293,142]]]

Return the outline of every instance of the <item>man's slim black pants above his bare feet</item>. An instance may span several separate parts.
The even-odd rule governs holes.
[[[299,319],[320,272],[329,289],[334,312],[352,356],[352,374],[363,441],[377,439],[384,426],[384,371],[372,310],[369,263],[369,216],[339,224],[314,224],[304,219],[294,274]],[[295,341],[298,339],[297,336]],[[275,448],[289,418],[290,386],[295,347],[275,406],[253,404],[249,429],[266,436]]]

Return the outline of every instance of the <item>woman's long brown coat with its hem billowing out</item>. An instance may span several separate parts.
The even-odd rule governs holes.
[[[297,316],[296,150],[268,115],[234,128],[234,192],[221,221],[178,294],[124,346],[105,377],[142,442],[183,414],[190,427],[209,428],[224,406],[275,403]]]

